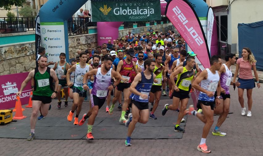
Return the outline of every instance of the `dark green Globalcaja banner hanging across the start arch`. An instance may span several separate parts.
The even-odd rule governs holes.
[[[161,20],[160,0],[91,1],[92,22]]]

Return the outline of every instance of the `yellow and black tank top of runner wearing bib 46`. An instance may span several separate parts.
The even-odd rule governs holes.
[[[188,71],[183,66],[183,73],[178,74],[176,86],[183,91],[189,91],[189,86],[191,84],[193,77],[194,77],[194,69],[192,68],[191,71]]]

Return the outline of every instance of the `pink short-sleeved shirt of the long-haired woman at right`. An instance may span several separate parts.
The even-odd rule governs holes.
[[[250,65],[249,61],[244,61],[243,57],[237,59],[236,64],[239,65],[239,78],[242,79],[252,79],[252,65]],[[253,65],[256,65],[254,62]]]

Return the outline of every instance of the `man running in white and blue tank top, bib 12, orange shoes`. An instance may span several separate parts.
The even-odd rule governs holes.
[[[220,105],[220,67],[222,65],[221,58],[219,56],[212,56],[210,59],[211,67],[203,70],[199,76],[195,79],[192,86],[200,91],[197,108],[202,109],[202,113],[196,112],[191,105],[185,114],[193,114],[197,116],[201,121],[205,123],[203,127],[203,134],[200,144],[197,146],[197,150],[203,153],[210,153],[205,143],[209,130],[214,122],[214,107]],[[199,86],[201,82],[201,86]],[[216,98],[214,97],[217,91]]]

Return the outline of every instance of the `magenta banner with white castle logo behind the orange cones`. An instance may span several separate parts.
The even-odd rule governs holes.
[[[15,93],[20,90],[22,82],[27,78],[29,72],[9,74],[0,76],[0,109],[14,108],[16,102]],[[27,104],[31,92],[31,81],[27,83],[20,95],[21,104]]]

